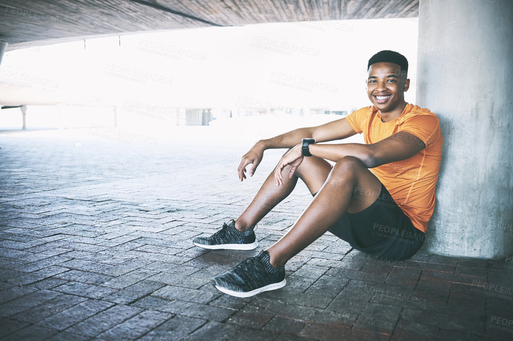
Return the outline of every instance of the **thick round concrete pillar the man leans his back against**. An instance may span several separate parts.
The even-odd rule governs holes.
[[[513,253],[513,1],[421,0],[417,104],[444,138],[423,249]]]

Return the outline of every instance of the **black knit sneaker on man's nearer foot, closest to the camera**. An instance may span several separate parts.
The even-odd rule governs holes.
[[[274,268],[269,263],[269,253],[260,251],[247,258],[230,271],[210,282],[219,291],[236,297],[250,297],[262,291],[279,289],[287,284],[285,268]]]

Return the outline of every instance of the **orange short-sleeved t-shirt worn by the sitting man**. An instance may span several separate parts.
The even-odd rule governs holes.
[[[435,185],[442,157],[443,139],[437,115],[407,103],[401,116],[382,122],[378,109],[371,105],[352,112],[346,121],[355,132],[363,133],[366,144],[400,131],[409,132],[426,144],[409,159],[370,168],[413,225],[426,232],[435,208]]]

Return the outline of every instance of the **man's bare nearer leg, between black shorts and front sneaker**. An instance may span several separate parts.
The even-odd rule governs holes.
[[[285,184],[285,176],[283,179]],[[369,190],[371,195],[353,197],[356,187]],[[344,157],[333,166],[319,193],[292,228],[267,249],[271,265],[280,267],[285,264],[321,237],[346,211],[356,213],[370,206],[378,198],[380,191],[381,182],[359,159]]]

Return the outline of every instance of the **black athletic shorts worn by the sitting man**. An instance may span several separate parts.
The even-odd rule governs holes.
[[[329,231],[357,250],[394,261],[412,257],[426,238],[393,201],[383,184],[376,201],[361,212],[346,212]]]

